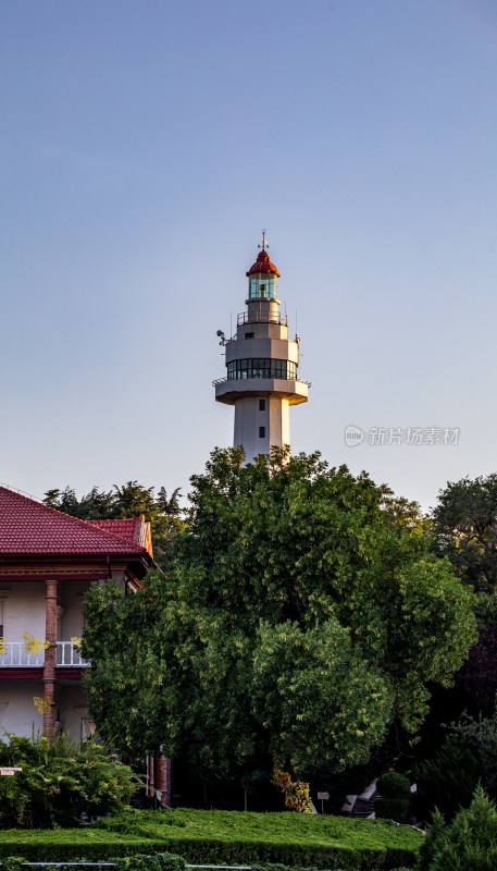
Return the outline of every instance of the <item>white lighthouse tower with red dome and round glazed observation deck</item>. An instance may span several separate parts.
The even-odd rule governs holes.
[[[299,340],[288,340],[287,317],[278,311],[279,272],[266,252],[249,271],[247,311],[237,317],[236,334],[225,346],[227,376],[213,382],[215,398],[235,406],[234,446],[243,445],[246,463],[290,443],[289,406],[308,401],[309,381],[297,377]]]

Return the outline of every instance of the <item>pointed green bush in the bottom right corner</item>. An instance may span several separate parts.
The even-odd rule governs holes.
[[[481,786],[469,808],[450,824],[434,814],[419,851],[415,871],[495,871],[497,868],[497,810]]]

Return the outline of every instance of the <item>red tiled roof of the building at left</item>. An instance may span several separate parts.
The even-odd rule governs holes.
[[[136,524],[137,520],[124,522]],[[147,554],[129,536],[113,535],[86,520],[0,487],[0,554]],[[147,554],[148,555],[148,554]]]

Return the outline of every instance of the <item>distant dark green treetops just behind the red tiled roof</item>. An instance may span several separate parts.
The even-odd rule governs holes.
[[[163,487],[154,495],[153,487],[142,487],[137,481],[127,481],[122,487],[114,484],[112,490],[92,487],[89,493],[77,499],[75,490],[48,490],[44,502],[52,508],[72,514],[82,520],[115,519],[119,517],[139,517],[150,523],[153,554],[157,563],[166,568],[171,559],[175,536],[184,528],[179,507],[179,489],[171,496]]]

